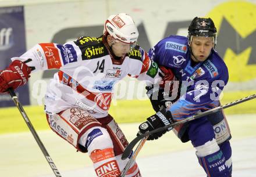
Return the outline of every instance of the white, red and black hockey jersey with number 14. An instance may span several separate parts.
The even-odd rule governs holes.
[[[12,60],[25,62],[32,72],[59,69],[47,86],[47,114],[80,107],[101,118],[108,115],[114,85],[126,75],[151,84],[162,80],[157,63],[140,46],[119,59],[109,50],[102,37],[80,37],[64,45],[37,44]]]

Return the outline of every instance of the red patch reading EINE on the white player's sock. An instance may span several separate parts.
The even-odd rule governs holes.
[[[105,164],[96,168],[95,172],[98,177],[112,177],[120,175],[120,170],[116,160],[106,162]]]

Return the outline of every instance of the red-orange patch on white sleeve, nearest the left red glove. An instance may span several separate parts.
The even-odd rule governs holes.
[[[41,46],[42,50],[44,50],[48,69],[60,68],[62,64],[59,57],[58,48],[56,48],[53,43],[41,43],[39,45]]]

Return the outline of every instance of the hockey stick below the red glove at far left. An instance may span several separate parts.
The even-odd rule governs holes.
[[[27,114],[25,113],[25,111],[22,107],[22,104],[20,104],[15,92],[13,91],[12,88],[9,88],[8,92],[10,93],[10,96],[12,97],[13,102],[16,104],[17,109],[19,109],[20,114],[22,114],[22,117],[23,117],[24,121],[26,121],[27,127],[29,127],[30,132],[32,133],[32,135],[34,136],[35,141],[37,142],[38,146],[42,150],[42,153],[44,154],[44,157],[46,158],[48,164],[52,168],[52,171],[54,171],[55,176],[56,177],[61,177],[61,174],[59,173],[58,169],[56,168],[56,166],[54,164],[54,161],[52,161],[52,158],[49,156],[47,150],[45,149],[44,145],[42,144],[39,136],[37,135],[37,132],[35,132],[35,129],[34,129],[33,125],[31,124],[31,122],[29,120],[29,117],[27,117]]]

